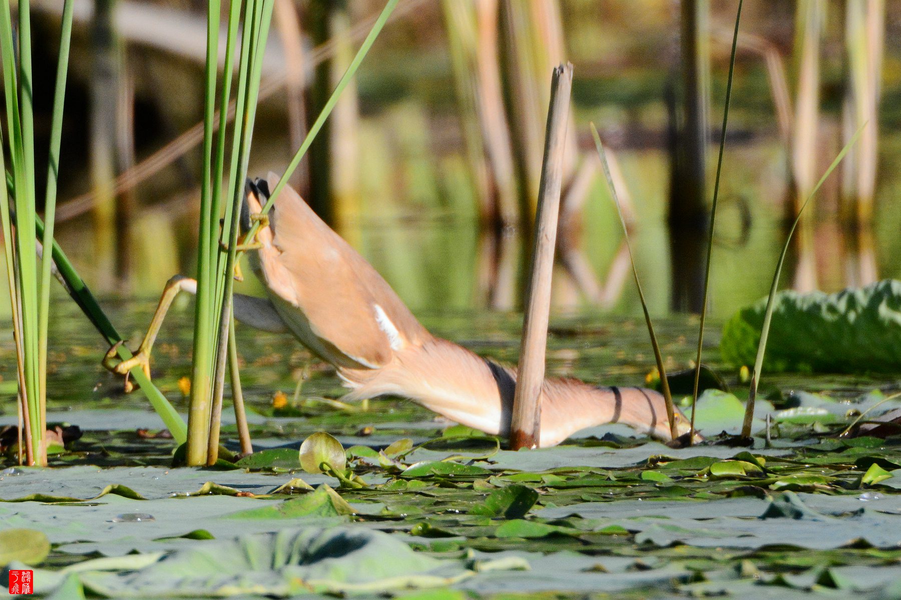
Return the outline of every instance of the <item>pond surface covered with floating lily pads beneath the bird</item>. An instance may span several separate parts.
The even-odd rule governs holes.
[[[178,380],[189,372],[191,301],[173,309],[153,363],[154,381],[182,411]],[[153,307],[104,304],[116,326],[135,336]],[[35,571],[41,595],[77,598],[71,590],[84,586],[105,597],[159,597],[174,588],[287,597],[303,591],[291,583],[303,573],[306,593],[437,586],[440,597],[455,600],[599,592],[781,598],[840,590],[896,597],[901,446],[896,438],[842,441],[818,433],[837,431],[881,398],[868,392],[896,389],[892,378],[767,376],[773,404],[761,402],[759,416],[773,415],[772,441],[758,438],[751,448],[672,449],[614,425],[557,448],[509,452],[404,400],[375,399],[368,407],[323,401],[341,395],[330,369],[311,363],[287,336],[239,327],[258,452],[237,469],[172,469],[173,444],[157,435],[161,424],[140,392],[125,396],[121,379],[99,367],[105,348],[68,303],[55,309],[50,420],[79,425],[82,437],[52,459],[52,470],[12,468],[7,459],[11,468],[0,472],[0,499],[19,500],[0,502],[2,528],[43,533],[53,544]],[[437,335],[514,362],[516,313],[446,309],[420,317]],[[660,319],[658,328],[669,365],[686,365],[696,318]],[[742,396],[736,373],[718,360],[718,328],[714,319],[705,356]],[[12,381],[11,345],[0,352],[4,380]],[[551,321],[552,374],[637,384],[652,363],[641,321],[596,312]],[[287,401],[277,408],[279,391]],[[737,429],[741,404],[702,402],[705,434]],[[0,418],[15,420],[8,409]],[[759,419],[755,429],[764,428]],[[341,441],[364,487],[300,470],[297,448],[318,430]],[[227,447],[236,449],[235,437],[225,425]],[[388,447],[403,438],[409,443]],[[379,458],[378,449],[387,455]],[[278,550],[294,540],[332,548],[329,562],[319,554],[294,562]],[[270,555],[283,558],[256,560]],[[92,562],[105,557],[118,558]],[[65,570],[75,564],[78,574]],[[184,569],[191,578],[179,575]]]

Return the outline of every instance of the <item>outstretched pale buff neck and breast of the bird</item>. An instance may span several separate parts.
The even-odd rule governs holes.
[[[402,396],[489,434],[507,435],[510,430],[515,370],[442,339],[405,348],[378,371],[344,370],[341,376],[353,389],[351,397]],[[647,393],[595,388],[577,380],[545,380],[540,443],[551,446],[580,429],[613,422],[642,432],[653,430],[656,419]]]

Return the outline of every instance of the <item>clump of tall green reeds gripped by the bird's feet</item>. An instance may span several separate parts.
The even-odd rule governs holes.
[[[272,198],[263,213],[271,208],[272,200],[287,183],[300,160],[309,148],[323,122],[332,112],[341,91],[356,73],[360,62],[366,56],[378,32],[384,27],[398,0],[388,3],[369,36],[364,40],[357,56],[341,78],[332,97],[325,104],[323,112],[310,129],[304,143],[288,166],[285,175],[273,191]],[[248,0],[244,5],[243,33],[241,35],[241,58],[238,69],[236,91],[236,114],[232,131],[232,155],[230,162],[227,198],[223,203],[222,175],[224,168],[224,134],[222,128],[213,142],[214,93],[216,87],[216,58],[221,4],[218,0],[208,5],[207,13],[207,64],[205,80],[205,137],[204,137],[204,183],[201,197],[201,233],[198,248],[197,296],[195,312],[195,350],[192,365],[191,405],[188,415],[187,463],[199,465],[214,462],[218,450],[219,410],[222,406],[225,364],[228,354],[228,324],[231,321],[232,273],[238,260],[238,219],[243,198],[243,182],[247,176],[250,161],[250,146],[253,123],[259,99],[259,79],[262,73],[263,55],[268,39],[269,22],[274,0]],[[232,60],[237,39],[237,6],[232,4],[229,16],[229,38],[226,42],[226,66],[222,87],[222,109],[230,95]],[[221,123],[220,125],[223,125]],[[215,150],[215,159],[213,152]],[[211,181],[212,180],[212,181]],[[223,210],[222,210],[223,209]],[[220,212],[224,212],[223,228],[216,235],[216,225]],[[252,240],[259,223],[254,223],[247,239]],[[227,242],[226,242],[227,240]],[[227,246],[223,253],[222,246]],[[232,379],[232,386],[234,379]],[[239,392],[240,393],[240,392]]]

